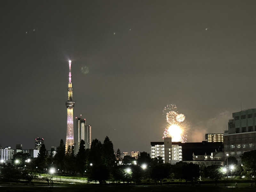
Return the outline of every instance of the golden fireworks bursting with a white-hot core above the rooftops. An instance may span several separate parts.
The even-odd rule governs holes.
[[[168,127],[164,129],[164,137],[172,137],[174,142],[186,142],[187,135],[184,134],[185,127],[183,126],[186,116],[179,113],[176,105],[173,104],[164,107],[163,115],[168,123]]]

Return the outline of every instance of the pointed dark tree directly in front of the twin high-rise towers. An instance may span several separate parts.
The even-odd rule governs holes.
[[[70,156],[71,156],[71,154],[70,154]],[[83,173],[84,173],[85,162],[86,162],[85,142],[84,142],[84,140],[81,140],[79,149],[78,149],[78,153],[76,155],[76,165],[77,165],[77,170],[79,171],[80,175],[83,175]]]

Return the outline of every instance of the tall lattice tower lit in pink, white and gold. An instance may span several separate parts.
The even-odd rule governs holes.
[[[66,135],[66,150],[74,144],[74,123],[73,123],[73,109],[75,102],[73,101],[73,88],[71,82],[71,60],[69,63],[69,74],[68,74],[68,101],[66,101],[67,107],[67,135]]]

